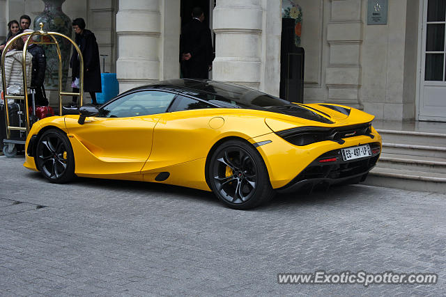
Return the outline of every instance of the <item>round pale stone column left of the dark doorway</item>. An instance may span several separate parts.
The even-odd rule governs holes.
[[[120,93],[160,79],[160,0],[119,0],[116,15]]]

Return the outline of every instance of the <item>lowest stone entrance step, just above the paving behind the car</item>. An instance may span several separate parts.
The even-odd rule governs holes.
[[[446,174],[376,166],[364,184],[446,194]]]

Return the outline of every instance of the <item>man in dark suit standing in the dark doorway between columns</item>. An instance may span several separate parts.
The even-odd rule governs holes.
[[[203,24],[201,8],[192,10],[192,21],[183,26],[180,38],[180,62],[183,78],[208,79],[215,55],[210,29]]]

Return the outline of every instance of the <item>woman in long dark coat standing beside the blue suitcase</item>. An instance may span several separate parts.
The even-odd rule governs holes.
[[[93,32],[85,29],[84,19],[73,20],[72,29],[76,33],[75,42],[84,57],[84,91],[89,92],[92,103],[97,104],[95,93],[102,92],[98,43]],[[80,77],[80,60],[74,47],[70,67],[72,67],[72,82],[74,82],[77,77]],[[79,88],[73,88],[72,91],[77,93]],[[72,97],[72,107],[74,106],[77,106],[77,96]]]

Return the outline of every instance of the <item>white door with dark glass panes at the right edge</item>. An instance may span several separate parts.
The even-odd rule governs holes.
[[[425,0],[419,120],[446,122],[446,0]]]

